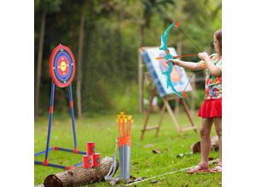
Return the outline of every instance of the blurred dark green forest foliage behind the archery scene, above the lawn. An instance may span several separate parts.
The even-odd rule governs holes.
[[[137,111],[137,49],[142,44],[159,46],[160,34],[173,20],[180,21],[186,35],[201,50],[209,53],[213,52],[212,34],[222,26],[221,0],[35,0],[34,4],[35,79],[38,73],[42,14],[46,14],[38,98],[39,116],[44,116],[49,111],[49,55],[61,43],[72,49],[77,62],[83,12],[84,48],[80,67],[83,113],[124,109]],[[177,48],[177,42],[182,43],[183,54],[199,52],[181,32],[173,30],[171,36],[174,48]],[[197,72],[198,77],[203,75],[203,72]],[[77,79],[76,74],[73,90],[76,90]],[[198,89],[203,86],[203,82],[196,84]],[[147,97],[145,94],[145,98]],[[76,103],[75,93],[73,98]],[[68,110],[67,88],[56,88],[55,111]]]

